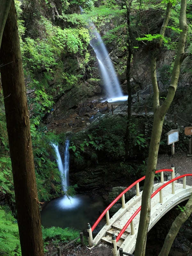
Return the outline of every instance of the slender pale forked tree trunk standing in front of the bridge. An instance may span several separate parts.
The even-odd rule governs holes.
[[[170,13],[171,13],[171,4],[168,3],[164,23],[160,31],[160,34],[162,34],[162,36],[164,36],[164,32],[170,18]],[[144,183],[143,193],[142,193],[140,222],[139,222],[137,241],[135,245],[135,254],[134,254],[135,256],[145,255],[148,225],[150,221],[151,193],[153,189],[153,182],[154,182],[154,176],[155,176],[155,170],[156,170],[156,164],[157,164],[157,155],[158,155],[158,149],[160,144],[162,126],[163,126],[164,116],[171,105],[171,102],[173,100],[173,97],[177,88],[177,83],[178,83],[179,74],[180,74],[180,65],[183,60],[185,41],[187,37],[188,26],[186,23],[186,0],[181,0],[180,29],[182,29],[182,32],[180,33],[177,56],[176,56],[176,60],[175,60],[173,71],[172,71],[171,84],[169,86],[166,100],[164,101],[162,106],[159,105],[159,91],[158,91],[157,81],[156,81],[156,53],[155,52],[154,54],[152,54],[152,58],[151,58],[151,78],[152,78],[153,91],[154,91],[154,121],[153,121],[152,135],[151,135],[151,141],[150,141],[150,147],[149,147],[146,178],[145,178],[145,183]],[[161,44],[162,44],[162,39],[159,40],[159,44],[157,44],[157,46],[160,47]]]

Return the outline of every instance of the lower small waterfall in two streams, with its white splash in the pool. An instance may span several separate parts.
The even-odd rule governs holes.
[[[69,140],[67,139],[65,142],[65,156],[64,156],[64,164],[61,159],[61,155],[59,152],[59,146],[52,143],[53,148],[55,149],[55,153],[57,156],[57,165],[61,175],[61,185],[62,190],[67,192],[69,186]],[[76,196],[63,196],[58,205],[62,208],[73,208],[76,207],[80,203],[80,199]]]

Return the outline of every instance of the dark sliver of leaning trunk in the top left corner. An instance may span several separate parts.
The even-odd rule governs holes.
[[[0,48],[5,22],[9,13],[12,0],[0,0]],[[1,64],[1,63],[0,63]]]

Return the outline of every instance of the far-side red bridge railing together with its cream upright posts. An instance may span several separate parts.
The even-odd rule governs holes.
[[[161,182],[164,182],[163,179],[163,172],[173,172],[172,169],[161,169],[156,171],[155,173],[159,173],[161,172]],[[140,178],[139,180],[136,180],[135,182],[133,182],[129,187],[127,187],[123,192],[121,192],[121,194],[119,194],[119,196],[117,196],[109,205],[108,207],[101,213],[101,215],[99,216],[99,218],[95,221],[95,223],[93,224],[91,230],[93,231],[96,226],[98,225],[98,223],[100,222],[100,220],[103,218],[104,215],[106,215],[106,222],[107,225],[109,225],[110,221],[109,221],[109,209],[121,198],[122,199],[122,208],[125,208],[125,198],[124,198],[124,194],[131,189],[132,187],[134,187],[136,185],[136,196],[139,196],[139,182],[144,180],[145,176],[143,176],[142,178]]]

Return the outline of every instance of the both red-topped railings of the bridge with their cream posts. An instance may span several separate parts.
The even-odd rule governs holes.
[[[172,179],[167,181],[166,183],[164,183],[164,176],[163,176],[163,172],[171,172],[171,176]],[[160,173],[161,174],[161,183],[163,183],[163,185],[161,185],[160,187],[158,187],[151,195],[151,198],[153,198],[158,192],[159,192],[159,203],[162,204],[163,203],[163,193],[162,193],[162,189],[165,188],[167,185],[169,185],[170,183],[172,183],[172,194],[175,194],[175,185],[174,185],[174,181],[179,180],[179,179],[183,179],[183,189],[186,189],[186,177],[187,176],[192,176],[192,174],[184,174],[181,175],[179,177],[174,177],[174,165],[172,164],[172,169],[162,169],[162,170],[158,170],[155,173]],[[93,224],[92,228],[88,223],[88,227],[87,227],[87,232],[88,232],[88,241],[89,241],[89,246],[92,247],[93,243],[96,242],[96,240],[94,241],[92,239],[92,231],[96,228],[96,226],[99,224],[100,220],[104,217],[104,215],[106,216],[106,226],[110,228],[110,225],[112,225],[118,218],[120,218],[121,216],[124,215],[124,213],[126,212],[125,209],[125,197],[124,194],[130,190],[132,187],[136,186],[136,198],[141,196],[140,194],[140,189],[139,189],[139,182],[144,180],[145,176],[143,176],[142,178],[140,178],[139,180],[136,180],[134,183],[132,183],[128,188],[126,188],[121,194],[119,194],[119,196],[117,196],[112,202],[111,204],[108,205],[108,207],[101,213],[101,215],[99,216],[99,218],[95,221],[95,223]],[[114,216],[116,214],[114,214],[114,216],[110,219],[109,218],[109,209],[121,198],[122,200],[122,208],[119,210],[120,212],[120,217],[116,216],[114,218]],[[135,199],[135,201],[137,201],[137,199]],[[137,216],[137,214],[140,212],[141,210],[141,206],[132,214],[131,218],[129,218],[129,220],[126,222],[126,224],[124,225],[124,227],[121,229],[121,231],[118,233],[118,235],[115,236],[115,234],[113,234],[112,236],[112,247],[113,247],[113,255],[116,256],[118,255],[117,252],[117,242],[119,241],[119,239],[122,237],[122,235],[124,234],[124,232],[126,231],[126,229],[128,228],[128,226],[131,226],[131,235],[135,234],[135,228],[134,228],[134,223],[133,220],[134,218]],[[106,227],[106,230],[108,229]],[[96,238],[96,237],[95,237]],[[97,238],[100,239],[101,237]],[[99,241],[99,240],[98,240]],[[128,254],[127,254],[128,255]]]

